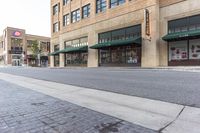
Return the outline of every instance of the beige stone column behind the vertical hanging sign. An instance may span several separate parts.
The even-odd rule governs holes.
[[[159,3],[147,8],[150,13],[150,36],[145,32],[145,17],[142,23],[142,67],[159,66]]]

